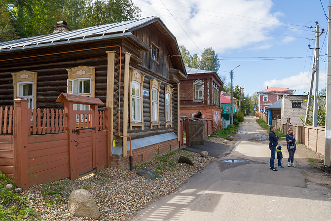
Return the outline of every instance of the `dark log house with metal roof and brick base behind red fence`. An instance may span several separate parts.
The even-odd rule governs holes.
[[[63,109],[56,102],[61,93],[99,98],[99,111],[111,109],[111,165],[125,169],[129,151],[140,164],[179,147],[179,85],[187,74],[176,37],[158,17],[53,28],[49,35],[0,42],[1,107],[24,98],[42,112]]]

